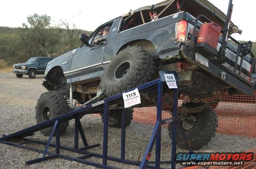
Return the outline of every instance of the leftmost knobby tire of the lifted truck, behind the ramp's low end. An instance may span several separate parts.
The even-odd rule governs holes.
[[[38,99],[36,109],[36,122],[37,124],[45,122],[49,119],[58,117],[69,112],[69,105],[64,95],[57,91],[49,91],[41,94]],[[68,127],[68,122],[61,122],[60,133],[63,134]],[[45,136],[49,136],[53,127],[48,127],[41,132]]]

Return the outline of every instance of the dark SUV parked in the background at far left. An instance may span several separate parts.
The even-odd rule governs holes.
[[[13,72],[18,78],[23,75],[29,75],[30,79],[34,79],[35,75],[43,75],[49,61],[52,57],[31,57],[26,63],[18,63],[13,65]]]

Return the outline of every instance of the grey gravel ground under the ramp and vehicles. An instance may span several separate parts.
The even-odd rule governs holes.
[[[24,76],[21,79],[16,78],[13,73],[0,72],[0,135],[10,134],[19,131],[25,127],[36,124],[35,121],[35,105],[40,94],[46,92],[41,85],[43,75],[37,75],[35,79],[29,79]],[[92,149],[93,152],[102,152],[102,133],[103,124],[98,116],[87,115],[81,119],[82,126],[85,130],[88,143],[101,143],[100,147]],[[126,159],[141,160],[147,143],[149,141],[153,126],[132,122],[126,130]],[[73,130],[74,121],[69,122],[67,132],[61,137],[61,144],[65,146],[73,146]],[[109,155],[118,157],[120,155],[120,136],[121,129],[109,128]],[[47,141],[47,137],[40,132],[36,132],[33,138]],[[54,140],[54,139],[53,139]],[[81,143],[82,141],[80,141]],[[35,146],[35,145],[31,145]],[[217,134],[208,146],[204,146],[200,152],[241,152],[254,149],[256,140],[249,137],[229,136]],[[37,146],[38,147],[38,146]],[[40,146],[39,146],[40,147]],[[43,146],[41,146],[43,150]],[[51,150],[51,149],[50,149]],[[153,149],[154,150],[154,149]],[[166,128],[162,129],[162,149],[161,160],[170,160],[171,141]],[[186,152],[187,150],[177,148],[177,152]],[[65,155],[79,156],[75,153],[61,151]],[[155,151],[152,152],[151,159],[154,160]],[[70,169],[70,168],[86,168],[94,167],[72,162],[68,160],[54,159],[37,164],[25,165],[26,160],[39,158],[42,155],[33,151],[24,150],[0,144],[0,168],[32,168],[32,169]],[[99,159],[92,161],[101,162]],[[109,162],[120,168],[138,168],[130,165]],[[168,167],[163,165],[162,167]]]

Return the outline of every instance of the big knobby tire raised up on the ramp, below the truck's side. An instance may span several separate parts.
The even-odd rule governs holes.
[[[106,66],[100,88],[107,96],[122,93],[149,82],[154,68],[155,62],[149,52],[139,46],[128,46]]]

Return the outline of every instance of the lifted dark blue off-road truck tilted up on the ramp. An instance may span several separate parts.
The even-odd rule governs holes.
[[[230,11],[229,7],[226,17],[207,0],[168,0],[104,23],[89,37],[82,34],[80,47],[48,63],[43,86],[49,92],[38,100],[37,122],[154,80],[159,70],[176,70],[179,93],[190,99],[179,108],[182,127],[193,149],[207,145],[218,126],[217,116],[210,107],[221,98],[211,103],[203,101],[218,91],[247,95],[254,92],[252,43],[240,44],[229,35],[241,33],[229,21]],[[197,42],[204,22],[215,22],[222,28],[217,48]],[[110,29],[105,41],[93,44],[106,27]],[[237,47],[227,42],[227,38]],[[169,90],[164,91],[163,99],[172,105],[172,93],[166,91]],[[156,92],[150,91],[141,95],[139,106],[155,106],[155,100]],[[111,107],[110,126],[121,127],[120,111],[120,103]],[[132,109],[126,109],[126,126],[132,113]],[[62,133],[67,126],[68,123],[62,124]],[[46,135],[50,132],[51,129],[43,131]],[[181,132],[177,134],[178,145],[188,148]]]

